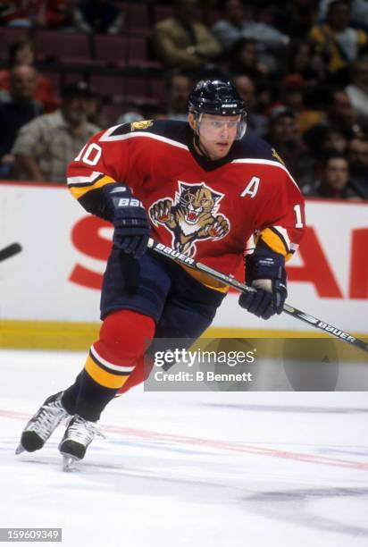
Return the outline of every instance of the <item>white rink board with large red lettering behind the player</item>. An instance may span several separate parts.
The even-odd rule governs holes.
[[[339,298],[323,297],[317,294],[312,282],[291,279],[289,303],[344,330],[367,332],[367,296],[351,298],[349,283],[352,234],[355,230],[364,229],[364,234],[368,233],[368,204],[310,200],[306,218],[339,287]],[[70,279],[76,265],[85,269],[83,280],[92,277],[92,285],[95,278],[100,279],[104,272],[105,259],[101,259],[101,253],[106,254],[112,229],[103,227],[97,230],[98,223],[62,186],[0,183],[0,249],[16,241],[23,248],[21,254],[0,265],[0,319],[98,321],[99,290]],[[98,240],[99,250],[95,257],[91,257],[88,253],[95,248],[95,240]],[[89,247],[87,252],[86,246]],[[360,247],[355,244],[354,267],[358,264],[356,257],[361,256],[363,267],[367,269],[367,248],[368,241],[362,245],[362,238]],[[303,268],[301,255],[294,257],[291,265],[294,271]],[[318,270],[316,266],[313,274],[321,279]],[[213,326],[292,331],[305,331],[307,328],[289,316],[277,316],[263,322],[238,307],[237,300],[235,294],[225,299]]]

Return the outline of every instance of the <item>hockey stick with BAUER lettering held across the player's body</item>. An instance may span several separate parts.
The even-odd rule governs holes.
[[[208,275],[211,275],[214,279],[222,281],[227,285],[230,285],[230,287],[233,287],[234,289],[240,290],[240,292],[256,292],[253,287],[249,287],[244,283],[238,282],[238,280],[235,279],[232,275],[226,275],[226,273],[217,272],[216,270],[213,270],[213,268],[210,268],[209,266],[206,266],[201,262],[197,262],[194,258],[187,257],[186,255],[183,255],[182,253],[176,251],[171,247],[166,247],[166,245],[163,245],[163,243],[158,243],[157,241],[150,239],[148,240],[148,248],[151,248],[153,251],[155,251],[155,253],[158,253],[159,255],[163,255],[163,257],[171,258],[171,260],[177,262],[178,264],[186,265],[190,268],[193,268],[194,270],[197,270],[198,272],[207,273]],[[351,344],[355,348],[363,349],[364,351],[368,352],[368,343],[363,340],[359,340],[358,338],[355,338],[355,336],[349,334],[348,332],[341,331],[332,324],[325,323],[317,317],[305,314],[305,312],[300,311],[300,309],[289,306],[289,304],[286,303],[284,304],[283,311],[289,316],[296,317],[296,319],[300,319],[300,321],[304,321],[304,323],[313,326],[315,329],[320,329],[323,332],[327,332],[328,334],[334,336],[335,338],[338,338],[339,340],[346,341],[348,344]]]

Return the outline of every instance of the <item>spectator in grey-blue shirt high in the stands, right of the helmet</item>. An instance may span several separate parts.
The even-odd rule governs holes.
[[[270,24],[254,21],[249,8],[246,15],[240,0],[225,0],[220,5],[222,19],[214,23],[213,34],[225,50],[229,52],[231,46],[241,38],[253,39],[260,61],[274,72],[277,67],[276,52],[289,44],[289,37]]]

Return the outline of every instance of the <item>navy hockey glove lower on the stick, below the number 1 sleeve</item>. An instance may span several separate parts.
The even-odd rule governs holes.
[[[256,248],[246,257],[246,282],[256,292],[243,292],[239,305],[251,314],[269,319],[282,312],[288,296],[285,258],[271,249]]]

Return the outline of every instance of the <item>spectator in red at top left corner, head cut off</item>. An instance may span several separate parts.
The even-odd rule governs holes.
[[[56,29],[66,22],[65,0],[5,0],[0,24],[9,27]]]

